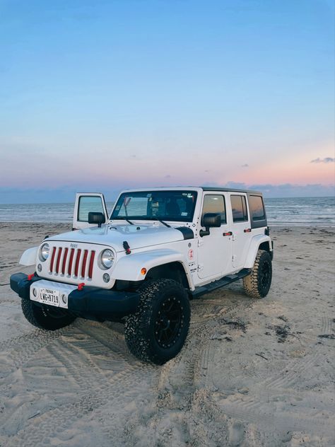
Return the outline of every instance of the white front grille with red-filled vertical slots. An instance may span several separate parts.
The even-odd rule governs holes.
[[[49,274],[92,279],[95,250],[53,247]]]

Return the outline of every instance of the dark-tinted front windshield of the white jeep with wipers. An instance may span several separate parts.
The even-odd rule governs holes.
[[[124,192],[110,219],[192,222],[196,195],[196,191]]]

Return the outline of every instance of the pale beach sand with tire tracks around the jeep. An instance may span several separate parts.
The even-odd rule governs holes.
[[[334,446],[334,228],[273,228],[269,296],[242,284],[192,301],[164,366],[123,326],[31,326],[8,282],[20,253],[64,224],[1,223],[0,446]]]

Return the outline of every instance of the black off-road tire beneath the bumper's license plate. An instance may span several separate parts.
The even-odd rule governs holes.
[[[70,325],[76,317],[66,309],[37,306],[33,301],[21,299],[23,315],[32,325],[45,330],[57,330]]]

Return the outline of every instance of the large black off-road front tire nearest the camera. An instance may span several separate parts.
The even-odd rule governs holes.
[[[182,349],[191,310],[187,291],[173,279],[150,280],[139,290],[136,313],[129,315],[124,336],[138,359],[163,365]]]

